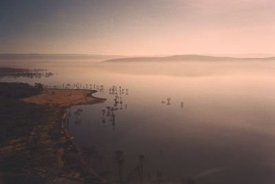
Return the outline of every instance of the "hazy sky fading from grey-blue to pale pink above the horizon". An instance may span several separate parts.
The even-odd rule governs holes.
[[[1,0],[0,53],[275,54],[274,0]]]

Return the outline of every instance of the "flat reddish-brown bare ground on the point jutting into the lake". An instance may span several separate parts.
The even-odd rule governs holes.
[[[49,104],[65,108],[71,105],[93,104],[106,101],[92,96],[95,90],[63,90],[63,89],[44,89],[41,94],[37,94],[22,101],[36,104]]]

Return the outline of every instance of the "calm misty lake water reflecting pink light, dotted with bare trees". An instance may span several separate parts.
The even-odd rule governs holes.
[[[1,81],[104,85],[94,95],[106,102],[67,110],[69,132],[100,176],[124,183],[272,184],[274,62],[37,62],[22,65],[55,75]]]

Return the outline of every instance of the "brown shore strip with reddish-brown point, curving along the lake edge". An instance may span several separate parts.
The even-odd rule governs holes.
[[[85,161],[85,156],[69,135],[65,123],[67,116],[65,110],[70,106],[103,103],[107,100],[93,96],[96,92],[96,90],[45,88],[40,94],[19,99],[21,103],[26,102],[27,105],[47,107],[52,113],[47,118],[41,116],[39,123],[31,127],[31,134],[10,138],[0,147],[4,162],[5,157],[10,159],[10,156],[13,158],[14,155],[20,155],[19,160],[11,160],[12,165],[9,167],[12,167],[14,172],[0,171],[0,181],[21,177],[31,178],[30,181],[34,178],[40,178],[39,181],[50,179],[52,183],[60,181],[108,183],[94,172],[92,165],[88,165]],[[33,144],[39,151],[32,150]],[[31,156],[25,156],[24,152]],[[22,160],[25,164],[17,165],[17,161]],[[17,170],[21,170],[19,176]]]

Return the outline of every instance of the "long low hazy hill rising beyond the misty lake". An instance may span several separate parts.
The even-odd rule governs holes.
[[[141,61],[255,61],[275,60],[275,57],[264,58],[239,58],[239,57],[211,57],[203,55],[175,55],[170,57],[128,57],[120,59],[109,59],[103,62],[141,62]]]

